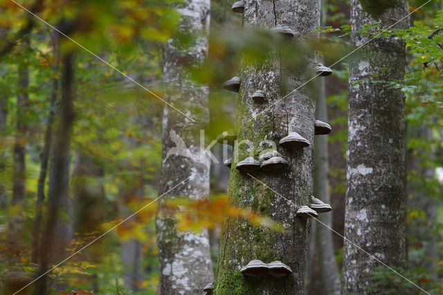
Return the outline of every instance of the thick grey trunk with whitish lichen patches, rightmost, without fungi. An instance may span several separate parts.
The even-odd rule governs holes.
[[[371,38],[359,33],[365,24],[379,19],[379,26],[371,29],[379,33],[408,15],[405,0],[386,10],[366,3],[352,0],[353,48]],[[395,27],[408,28],[408,18]],[[404,93],[388,85],[404,78],[405,44],[377,37],[356,54],[350,64],[345,238],[387,265],[405,267]],[[380,264],[347,240],[342,292],[361,293]]]

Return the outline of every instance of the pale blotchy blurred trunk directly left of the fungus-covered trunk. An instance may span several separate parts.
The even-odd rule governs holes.
[[[163,75],[168,87],[165,98],[195,120],[165,105],[163,110],[163,152],[159,195],[163,195],[186,177],[163,199],[186,197],[204,199],[209,196],[210,159],[200,147],[200,129],[209,123],[208,88],[188,80],[187,67],[198,66],[208,52],[209,0],[187,0],[177,9],[181,12],[179,34],[193,35],[195,44],[181,48],[179,39],[165,46]],[[173,135],[180,136],[195,159],[167,152],[175,146]],[[178,143],[177,143],[178,146]],[[203,147],[204,148],[204,147]],[[184,152],[184,150],[183,150]],[[199,294],[213,281],[208,231],[181,233],[176,229],[173,213],[161,202],[156,218],[157,243],[160,259],[161,294]]]

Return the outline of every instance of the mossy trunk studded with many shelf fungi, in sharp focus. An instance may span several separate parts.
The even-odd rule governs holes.
[[[312,33],[320,26],[320,0],[245,1],[246,28],[274,28],[289,26],[295,39],[316,41]],[[301,87],[284,100],[292,89],[297,89],[314,75],[318,55],[314,50],[302,53],[294,43],[291,51],[303,59],[298,71],[288,69],[285,53],[273,52],[269,61],[260,65],[245,65],[242,70],[234,159],[230,170],[228,194],[234,206],[260,211],[284,226],[283,232],[257,228],[245,220],[230,218],[224,224],[217,269],[217,294],[304,294],[307,238],[310,221],[296,217],[302,205],[310,203],[313,185],[315,93],[312,85]],[[290,45],[289,45],[290,44]],[[293,55],[293,52],[289,53]],[[266,93],[267,102],[255,105],[251,95],[257,89]],[[262,112],[263,111],[263,112]],[[262,112],[262,113],[261,113]],[[261,114],[260,114],[261,113]],[[235,168],[250,155],[257,159],[260,141],[269,140],[278,145],[288,132],[298,132],[309,141],[309,147],[292,150],[278,146],[278,152],[289,161],[289,167],[274,172],[253,172],[253,176],[284,195],[290,202],[262,186],[252,177]],[[249,144],[246,143],[245,140]],[[296,204],[296,205],[294,205]],[[265,263],[281,260],[292,269],[284,278],[251,278],[240,273],[250,260]]]

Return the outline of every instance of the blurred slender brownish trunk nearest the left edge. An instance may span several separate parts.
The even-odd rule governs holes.
[[[23,51],[28,51],[29,39],[24,39],[22,44]],[[23,206],[26,186],[26,131],[28,129],[27,112],[29,109],[29,69],[26,62],[19,64],[19,93],[17,95],[17,132],[15,134],[14,144],[14,170],[12,172],[12,206]],[[23,216],[22,208],[17,208],[17,215],[9,217],[8,241],[13,251],[20,251],[21,225]]]

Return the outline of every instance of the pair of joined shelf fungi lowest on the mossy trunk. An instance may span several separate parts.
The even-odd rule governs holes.
[[[292,274],[291,268],[278,260],[267,265],[262,260],[251,260],[248,265],[240,269],[240,272],[244,276],[274,276],[275,278],[282,278]]]

